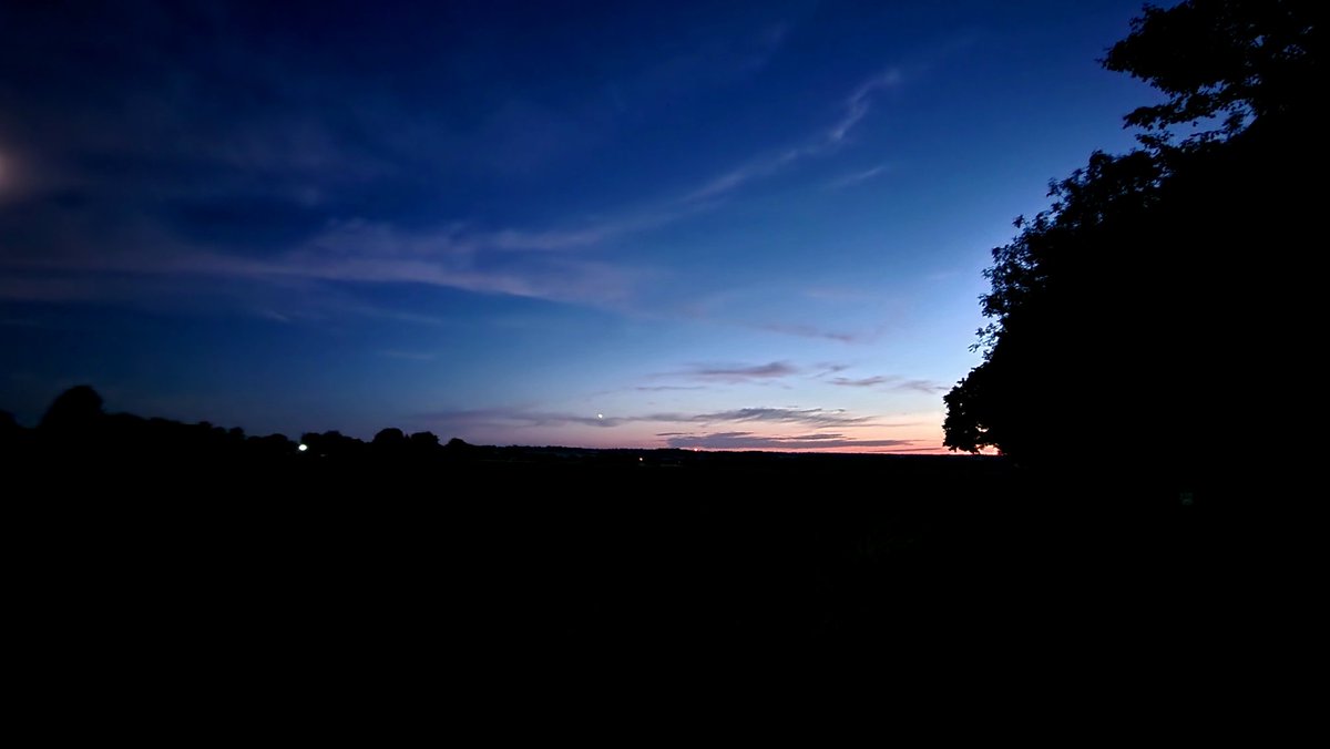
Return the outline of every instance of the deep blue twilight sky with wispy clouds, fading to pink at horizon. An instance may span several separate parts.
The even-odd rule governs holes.
[[[5,3],[0,408],[940,451],[990,249],[1156,100],[1138,11]]]

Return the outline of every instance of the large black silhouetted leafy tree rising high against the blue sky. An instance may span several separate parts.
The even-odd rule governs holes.
[[[1130,451],[1193,482],[1225,439],[1277,439],[1252,394],[1287,359],[1281,326],[1310,311],[1317,20],[1302,0],[1133,20],[1101,63],[1168,98],[1125,116],[1137,149],[1093,153],[994,249],[984,361],[944,398],[950,448]]]

